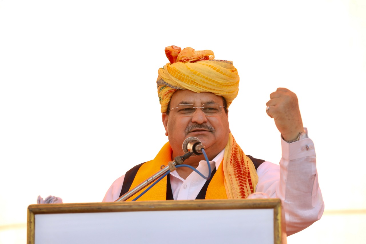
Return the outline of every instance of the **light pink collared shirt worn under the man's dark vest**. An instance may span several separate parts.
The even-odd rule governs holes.
[[[281,144],[280,165],[264,162],[258,167],[256,192],[263,192],[270,198],[282,200],[289,236],[320,219],[324,211],[324,202],[318,184],[313,141],[305,138],[289,144],[281,139]],[[218,169],[224,151],[225,149],[210,161],[212,169]],[[207,162],[199,162],[197,170],[203,175],[208,175]],[[176,171],[170,175],[174,200],[195,199],[206,182],[194,171],[185,180]],[[124,175],[113,182],[103,202],[113,202],[119,198],[123,180]]]

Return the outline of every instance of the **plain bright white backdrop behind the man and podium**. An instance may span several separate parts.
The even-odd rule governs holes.
[[[269,94],[298,95],[326,212],[288,243],[366,243],[365,16],[364,0],[1,0],[0,243],[25,242],[38,195],[100,202],[154,158],[167,141],[156,78],[170,45],[234,62],[230,127],[256,158],[281,157]],[[362,217],[346,225],[350,211]]]

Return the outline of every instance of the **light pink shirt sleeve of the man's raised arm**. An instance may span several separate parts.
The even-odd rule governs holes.
[[[258,169],[257,192],[279,198],[285,210],[287,236],[319,220],[324,202],[318,184],[314,143],[305,138],[294,143],[281,139],[280,165],[262,163]]]

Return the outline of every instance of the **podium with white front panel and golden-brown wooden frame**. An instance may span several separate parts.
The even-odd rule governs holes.
[[[286,244],[279,199],[34,204],[27,243]]]

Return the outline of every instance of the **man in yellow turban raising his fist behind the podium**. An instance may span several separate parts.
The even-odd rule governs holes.
[[[210,160],[211,178],[206,181],[192,169],[179,167],[139,200],[241,199],[261,192],[282,200],[287,235],[320,219],[324,203],[314,144],[303,128],[295,93],[278,88],[266,104],[267,114],[281,133],[280,166],[255,159],[244,154],[229,129],[228,107],[239,87],[238,71],[232,62],[214,60],[210,50],[171,46],[165,53],[170,63],[159,69],[157,87],[169,142],[154,160],[135,166],[117,179],[103,201],[115,201],[159,171],[162,164],[183,155],[183,141],[197,137]],[[203,155],[191,156],[184,164],[203,175],[209,173]]]

